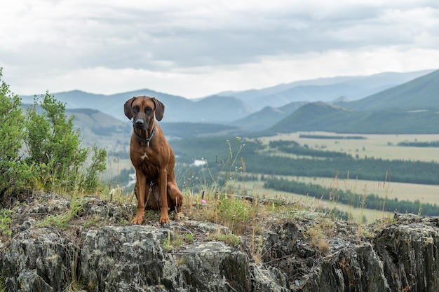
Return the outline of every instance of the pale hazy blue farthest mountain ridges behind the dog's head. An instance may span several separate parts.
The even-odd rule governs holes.
[[[230,123],[256,113],[266,106],[278,108],[291,102],[333,102],[341,97],[344,100],[357,100],[424,76],[431,71],[318,78],[259,90],[219,92],[198,100],[148,89],[115,95],[96,95],[80,90],[57,92],[52,95],[65,103],[67,109],[96,109],[120,120],[126,119],[123,114],[123,103],[126,100],[133,96],[148,95],[160,99],[165,104],[167,122]],[[20,97],[25,104],[34,101],[34,96]]]

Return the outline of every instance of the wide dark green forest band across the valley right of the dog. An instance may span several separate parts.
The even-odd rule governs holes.
[[[221,164],[230,151],[245,144],[239,153],[247,172],[266,175],[335,176],[371,181],[439,184],[439,164],[419,160],[384,160],[381,158],[353,158],[346,153],[320,151],[299,146],[295,141],[273,141],[269,146],[261,141],[234,138],[205,137],[171,141],[177,162],[190,164],[194,159],[205,159],[209,165]],[[297,157],[292,156],[297,155]]]

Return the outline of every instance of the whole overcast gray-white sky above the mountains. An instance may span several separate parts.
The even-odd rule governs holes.
[[[194,98],[439,69],[438,0],[15,0],[0,11],[2,79],[19,95]]]

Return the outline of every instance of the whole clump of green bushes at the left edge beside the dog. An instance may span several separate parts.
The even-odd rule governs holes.
[[[24,116],[20,97],[1,81],[0,205],[8,195],[25,189],[97,190],[107,152],[81,146],[81,133],[74,130],[73,119],[67,118],[65,104],[48,92],[40,99],[35,97]]]

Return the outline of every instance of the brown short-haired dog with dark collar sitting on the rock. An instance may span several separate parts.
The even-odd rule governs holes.
[[[127,118],[133,118],[130,158],[135,168],[137,214],[132,224],[142,224],[145,203],[150,209],[160,209],[160,223],[169,223],[170,211],[181,211],[183,195],[175,182],[175,156],[160,126],[165,106],[154,97],[133,97],[124,105]]]

